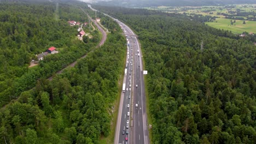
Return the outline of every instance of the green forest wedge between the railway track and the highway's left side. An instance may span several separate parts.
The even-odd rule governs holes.
[[[40,10],[50,5],[28,7]],[[72,7],[66,5],[65,9]],[[0,143],[98,143],[101,136],[109,135],[113,101],[118,97],[118,80],[123,73],[126,41],[117,23],[107,17],[102,19],[111,32],[102,47],[88,53],[74,68],[66,69],[52,81],[42,76],[33,89],[22,91],[18,101],[1,110]],[[69,29],[66,20],[59,26]],[[55,26],[49,25],[50,29],[52,27]],[[72,38],[73,31],[68,32],[71,34],[66,34]],[[60,45],[73,47],[60,58],[79,56],[85,52],[81,49],[89,50],[88,45],[94,45],[71,41],[74,46],[68,41]],[[39,66],[46,67],[57,58],[53,55]]]

